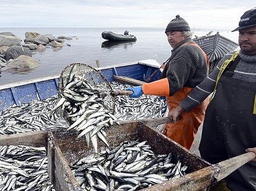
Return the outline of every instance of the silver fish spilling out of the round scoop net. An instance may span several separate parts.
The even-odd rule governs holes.
[[[87,147],[92,141],[94,150],[98,153],[98,139],[107,146],[104,128],[113,125],[117,120],[108,107],[105,106],[96,90],[85,76],[74,75],[63,90],[59,91],[61,97],[53,111],[61,107],[65,118],[70,121],[67,130],[79,132],[77,138],[86,137]]]

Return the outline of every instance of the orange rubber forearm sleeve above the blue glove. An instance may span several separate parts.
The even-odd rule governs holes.
[[[156,80],[148,84],[142,85],[142,91],[144,94],[155,96],[169,96],[170,86],[167,78]]]

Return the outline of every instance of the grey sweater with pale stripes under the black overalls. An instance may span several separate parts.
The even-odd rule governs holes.
[[[223,62],[229,59],[234,53],[235,52],[225,55],[222,60],[219,61],[217,67],[211,72],[209,77],[196,86],[189,96],[179,103],[185,111],[190,111],[192,108],[196,107],[213,92],[220,67]],[[256,85],[256,56],[246,55],[241,50],[239,50],[239,55],[241,59],[237,68],[234,70],[232,78],[252,82]]]

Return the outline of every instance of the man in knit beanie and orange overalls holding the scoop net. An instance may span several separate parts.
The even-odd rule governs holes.
[[[179,15],[167,25],[165,34],[172,50],[161,79],[127,90],[134,92],[130,96],[132,98],[139,98],[142,94],[166,97],[170,112],[207,77],[209,60],[203,50],[192,41],[189,24]],[[167,123],[165,135],[190,149],[208,104],[209,99],[205,99],[193,111],[181,114],[181,120],[177,123]]]

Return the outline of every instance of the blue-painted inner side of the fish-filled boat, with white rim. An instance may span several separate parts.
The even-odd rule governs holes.
[[[159,68],[156,61],[145,60],[108,67],[95,68],[99,70],[108,82],[116,76],[132,77],[143,80],[143,75],[150,75]],[[159,79],[158,73],[153,80]],[[25,80],[23,82],[0,86],[0,111],[11,105],[22,105],[32,100],[43,100],[58,94],[59,75]]]

